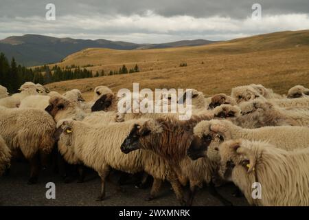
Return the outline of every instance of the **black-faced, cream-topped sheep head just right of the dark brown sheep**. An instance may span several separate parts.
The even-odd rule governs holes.
[[[225,137],[229,137],[227,129],[219,120],[199,122],[194,127],[194,137],[187,148],[187,155],[192,160],[205,157],[210,144],[223,142]]]

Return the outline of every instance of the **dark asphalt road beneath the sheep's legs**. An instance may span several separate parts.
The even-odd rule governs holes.
[[[77,180],[65,184],[62,178],[52,172],[43,170],[38,183],[27,185],[30,167],[25,162],[14,162],[8,176],[0,177],[0,205],[1,206],[179,206],[170,184],[165,182],[161,188],[159,198],[145,201],[150,188],[139,189],[133,184],[122,186],[126,192],[117,190],[113,184],[117,175],[112,175],[106,184],[106,199],[95,201],[100,192],[100,179],[94,172],[88,172],[84,183]],[[45,188],[47,182],[56,185],[56,199],[46,199]],[[247,206],[244,197],[232,196],[233,186],[221,186],[218,192],[229,199],[234,206]],[[198,190],[193,206],[222,206],[218,199],[209,194],[207,189]]]

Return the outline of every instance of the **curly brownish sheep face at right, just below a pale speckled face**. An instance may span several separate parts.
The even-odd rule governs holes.
[[[253,113],[264,113],[266,111],[273,110],[273,104],[265,102],[261,99],[252,100],[251,102],[244,102],[240,104],[242,115],[249,115]]]

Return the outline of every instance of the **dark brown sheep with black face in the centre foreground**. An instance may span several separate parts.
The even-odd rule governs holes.
[[[192,118],[187,121],[179,121],[168,116],[157,118],[155,122],[161,126],[163,132],[152,132],[152,128],[145,125],[141,126],[139,130],[132,129],[122,143],[122,152],[130,153],[141,148],[153,151],[165,158],[170,164],[170,168],[181,179],[182,184],[185,184],[185,179],[190,180],[188,206],[192,204],[196,188],[201,187],[204,181],[209,184],[212,195],[220,199],[225,205],[231,205],[229,201],[216,192],[214,184],[211,182],[211,176],[216,170],[216,163],[207,158],[192,162],[186,155],[187,147],[190,146],[192,140],[194,125],[201,120],[209,119],[209,117],[211,117],[209,114],[192,115]],[[150,131],[150,133],[148,135],[139,135],[141,131]]]

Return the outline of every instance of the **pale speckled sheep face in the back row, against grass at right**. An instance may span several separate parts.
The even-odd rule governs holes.
[[[242,86],[233,88],[231,91],[231,97],[239,104],[255,98],[260,98],[260,94],[251,86]]]

